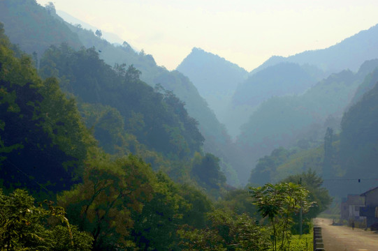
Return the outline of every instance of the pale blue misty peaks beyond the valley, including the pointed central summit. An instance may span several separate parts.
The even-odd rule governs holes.
[[[177,70],[192,80],[203,97],[221,103],[212,109],[237,139],[242,163],[236,169],[245,182],[243,177],[256,160],[275,147],[291,147],[303,138],[321,140],[325,126],[340,128],[342,113],[356,89],[377,66],[373,60],[378,58],[377,45],[376,25],[324,50],[272,56],[247,78],[233,63],[196,48]],[[372,86],[374,80],[361,86],[355,99]],[[224,93],[233,93],[231,99]]]

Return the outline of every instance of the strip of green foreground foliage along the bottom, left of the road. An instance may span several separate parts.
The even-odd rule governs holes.
[[[117,162],[117,165],[121,165],[119,167],[142,167],[142,162],[132,156]],[[112,171],[109,169],[110,166],[113,166]],[[78,185],[78,188],[66,192],[59,198],[79,199],[76,204],[73,201],[68,204],[71,211],[68,212],[68,218],[77,221],[78,227],[70,225],[64,208],[52,206],[52,201],[44,201],[36,206],[34,198],[25,190],[15,190],[8,196],[3,195],[0,190],[1,250],[311,250],[310,235],[298,238],[287,232],[284,236],[287,238],[286,241],[277,249],[270,243],[270,236],[274,233],[272,227],[259,225],[259,221],[245,213],[237,215],[232,211],[220,209],[210,211],[210,204],[198,204],[199,201],[204,201],[203,197],[201,199],[198,195],[191,198],[187,195],[181,196],[182,188],[169,181],[164,174],[157,174],[156,178],[148,177],[151,179],[150,182],[153,181],[150,184],[135,183],[138,178],[135,179],[128,174],[124,178],[131,179],[126,183],[122,179],[113,181],[115,177],[111,172],[119,173],[122,169],[115,168],[115,164],[110,166],[103,169],[110,172],[108,177],[105,173],[101,174],[98,168],[98,174],[92,169],[94,177],[88,177],[92,179],[92,197],[85,199],[90,189],[79,191],[78,188],[82,185]],[[136,172],[136,169],[131,172]],[[140,169],[145,177],[152,174],[146,171]],[[100,180],[99,175],[103,177]],[[122,186],[124,188],[121,188]],[[277,191],[278,187],[292,188],[286,192],[289,198],[282,200],[284,195],[271,198],[272,208],[277,208],[277,212],[284,215],[291,206],[282,202],[292,201],[294,197],[298,199],[298,192],[303,190],[298,185],[289,183],[282,183],[276,187]],[[191,195],[193,190],[185,188]],[[271,186],[266,185],[266,188]],[[81,196],[82,192],[84,194]],[[147,197],[139,197],[140,192]],[[282,193],[282,190],[279,192]],[[145,205],[140,204],[143,199]],[[197,201],[196,204],[194,201]],[[72,206],[79,209],[78,215],[73,215]],[[206,225],[198,226],[193,224],[193,219],[185,217],[190,211],[198,209],[193,206],[203,208]],[[275,213],[275,210],[270,209],[268,215]],[[266,208],[261,210],[264,213],[268,211]],[[281,221],[285,224],[284,220],[282,221],[285,217],[273,217],[276,223]],[[90,234],[78,229],[86,229]],[[277,236],[282,234],[282,229],[277,230]],[[280,237],[277,240],[280,240]]]

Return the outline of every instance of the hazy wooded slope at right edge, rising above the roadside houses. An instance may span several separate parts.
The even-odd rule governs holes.
[[[371,66],[371,63],[367,64]],[[288,174],[312,169],[321,174],[326,188],[337,197],[375,187],[378,132],[376,69],[358,88],[349,109],[342,116],[340,130],[328,127],[322,144],[317,147],[311,140],[303,139],[296,148],[281,147],[259,158],[250,182],[277,182]],[[361,94],[363,89],[367,91]],[[359,100],[356,97],[360,97]]]

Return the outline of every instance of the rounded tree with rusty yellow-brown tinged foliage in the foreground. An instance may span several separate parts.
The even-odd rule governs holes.
[[[131,248],[131,213],[152,199],[152,170],[133,155],[110,160],[98,153],[87,163],[83,183],[58,197],[68,217],[92,234],[94,250]]]

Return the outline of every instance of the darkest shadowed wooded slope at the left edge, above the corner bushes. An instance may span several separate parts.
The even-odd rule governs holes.
[[[96,142],[75,100],[65,97],[56,79],[41,80],[28,56],[15,58],[2,28],[0,23],[0,183],[42,193],[69,188]]]

